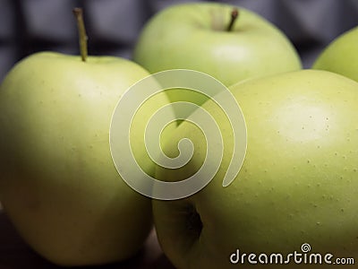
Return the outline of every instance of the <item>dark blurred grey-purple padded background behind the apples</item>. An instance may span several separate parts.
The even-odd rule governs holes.
[[[0,82],[22,57],[40,50],[78,54],[72,7],[81,6],[91,55],[131,57],[145,22],[183,0],[0,0]],[[310,67],[332,39],[358,24],[357,0],[220,0],[260,13],[283,30]]]

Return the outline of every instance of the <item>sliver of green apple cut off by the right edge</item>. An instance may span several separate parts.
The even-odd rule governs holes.
[[[333,40],[318,56],[313,69],[327,70],[358,82],[358,27]]]

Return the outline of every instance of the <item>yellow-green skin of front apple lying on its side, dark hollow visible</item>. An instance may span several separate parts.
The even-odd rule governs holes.
[[[237,83],[230,90],[247,126],[243,168],[231,185],[222,187],[233,137],[222,112],[213,101],[206,102],[202,108],[222,130],[224,159],[209,185],[195,195],[153,201],[166,256],[180,269],[232,268],[229,256],[236,249],[285,255],[300,253],[309,243],[311,253],[357,260],[358,83],[304,70]],[[165,151],[175,156],[174,142],[183,137],[195,145],[191,161],[181,169],[157,169],[158,179],[183,180],[200,168],[204,136],[187,121]],[[307,266],[291,261],[287,268]],[[247,259],[236,266],[252,267]]]

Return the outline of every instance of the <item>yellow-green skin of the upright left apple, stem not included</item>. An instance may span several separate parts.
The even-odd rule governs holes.
[[[117,101],[147,75],[121,58],[84,63],[43,52],[15,65],[1,85],[0,201],[23,239],[57,265],[124,260],[149,235],[151,201],[120,178],[109,147]],[[138,158],[144,150],[134,144]],[[148,161],[143,169],[153,170]]]

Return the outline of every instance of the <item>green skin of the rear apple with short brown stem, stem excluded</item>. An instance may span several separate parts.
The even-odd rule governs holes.
[[[226,31],[234,7],[199,3],[166,8],[141,31],[134,61],[150,73],[177,68],[197,70],[226,86],[302,68],[286,36],[256,13],[238,7],[234,29]]]

